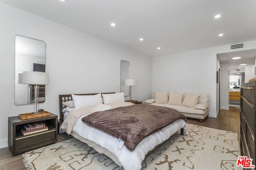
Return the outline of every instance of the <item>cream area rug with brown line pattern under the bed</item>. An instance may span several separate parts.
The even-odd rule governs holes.
[[[241,170],[237,133],[188,124],[142,162],[144,170]],[[22,155],[34,170],[122,170],[110,158],[72,138]]]

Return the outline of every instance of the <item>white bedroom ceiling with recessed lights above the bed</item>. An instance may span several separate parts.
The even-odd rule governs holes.
[[[256,39],[256,0],[0,2],[150,57]]]

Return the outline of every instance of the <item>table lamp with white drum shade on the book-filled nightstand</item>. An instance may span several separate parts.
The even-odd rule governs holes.
[[[38,94],[39,94],[38,85],[49,84],[49,74],[46,72],[39,72],[39,71],[24,71],[22,76],[22,84],[34,85],[34,89],[35,89],[34,105],[36,104],[36,111],[34,110],[34,114],[38,114]]]

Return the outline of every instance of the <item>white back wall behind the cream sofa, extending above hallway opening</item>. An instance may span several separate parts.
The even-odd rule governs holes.
[[[247,49],[256,49],[256,41],[244,42],[242,50]],[[152,92],[170,91],[210,94],[209,116],[217,117],[216,71],[218,69],[216,56],[218,53],[240,50],[231,50],[230,45],[223,45],[153,57]],[[225,74],[223,70],[221,72]],[[222,85],[220,84],[220,86]],[[222,98],[220,100],[222,101]]]

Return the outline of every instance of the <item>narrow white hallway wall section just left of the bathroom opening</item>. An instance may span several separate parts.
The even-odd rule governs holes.
[[[229,64],[220,64],[220,109],[228,110],[229,106],[229,88],[228,88],[228,70]]]

